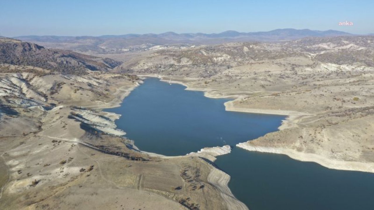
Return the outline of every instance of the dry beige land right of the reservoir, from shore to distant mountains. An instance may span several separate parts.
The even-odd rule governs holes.
[[[288,116],[279,132],[240,147],[374,172],[373,40],[304,38],[159,50],[117,70],[171,78],[212,98],[233,98],[225,104],[228,111]]]

